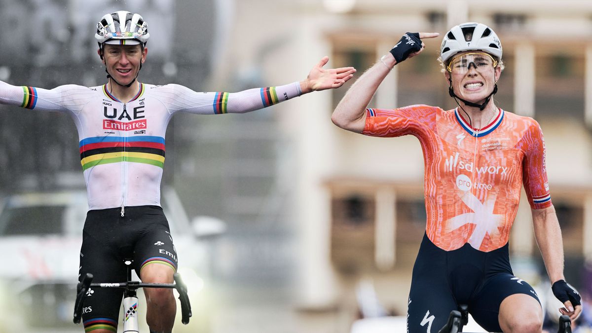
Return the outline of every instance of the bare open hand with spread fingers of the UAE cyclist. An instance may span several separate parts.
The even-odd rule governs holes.
[[[353,67],[342,67],[336,69],[324,69],[323,66],[329,62],[329,57],[324,56],[320,62],[311,69],[304,82],[301,82],[303,93],[320,91],[324,89],[339,88],[353,77],[356,69]]]

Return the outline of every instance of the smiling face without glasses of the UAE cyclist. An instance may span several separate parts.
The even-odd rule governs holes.
[[[100,55],[99,50],[99,55]],[[103,63],[112,78],[121,85],[130,84],[140,71],[141,63],[146,60],[148,49],[137,45],[105,44]]]

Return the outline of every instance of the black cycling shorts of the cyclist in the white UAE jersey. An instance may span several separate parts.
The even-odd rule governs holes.
[[[92,273],[93,283],[127,281],[124,260],[128,259],[133,260],[138,276],[148,264],[163,264],[176,271],[177,254],[162,208],[125,207],[123,217],[121,208],[89,210],[82,231],[79,280]],[[117,331],[123,289],[91,288],[87,295],[82,310],[85,330]]]

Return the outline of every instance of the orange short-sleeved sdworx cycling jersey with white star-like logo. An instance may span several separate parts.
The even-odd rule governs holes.
[[[474,129],[455,110],[411,105],[366,109],[362,134],[416,136],[425,164],[426,234],[446,251],[469,243],[489,252],[508,242],[524,184],[533,209],[551,206],[539,124],[498,109]]]

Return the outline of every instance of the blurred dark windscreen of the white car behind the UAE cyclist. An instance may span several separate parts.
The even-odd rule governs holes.
[[[0,235],[62,234],[66,206],[7,207],[0,215]]]

